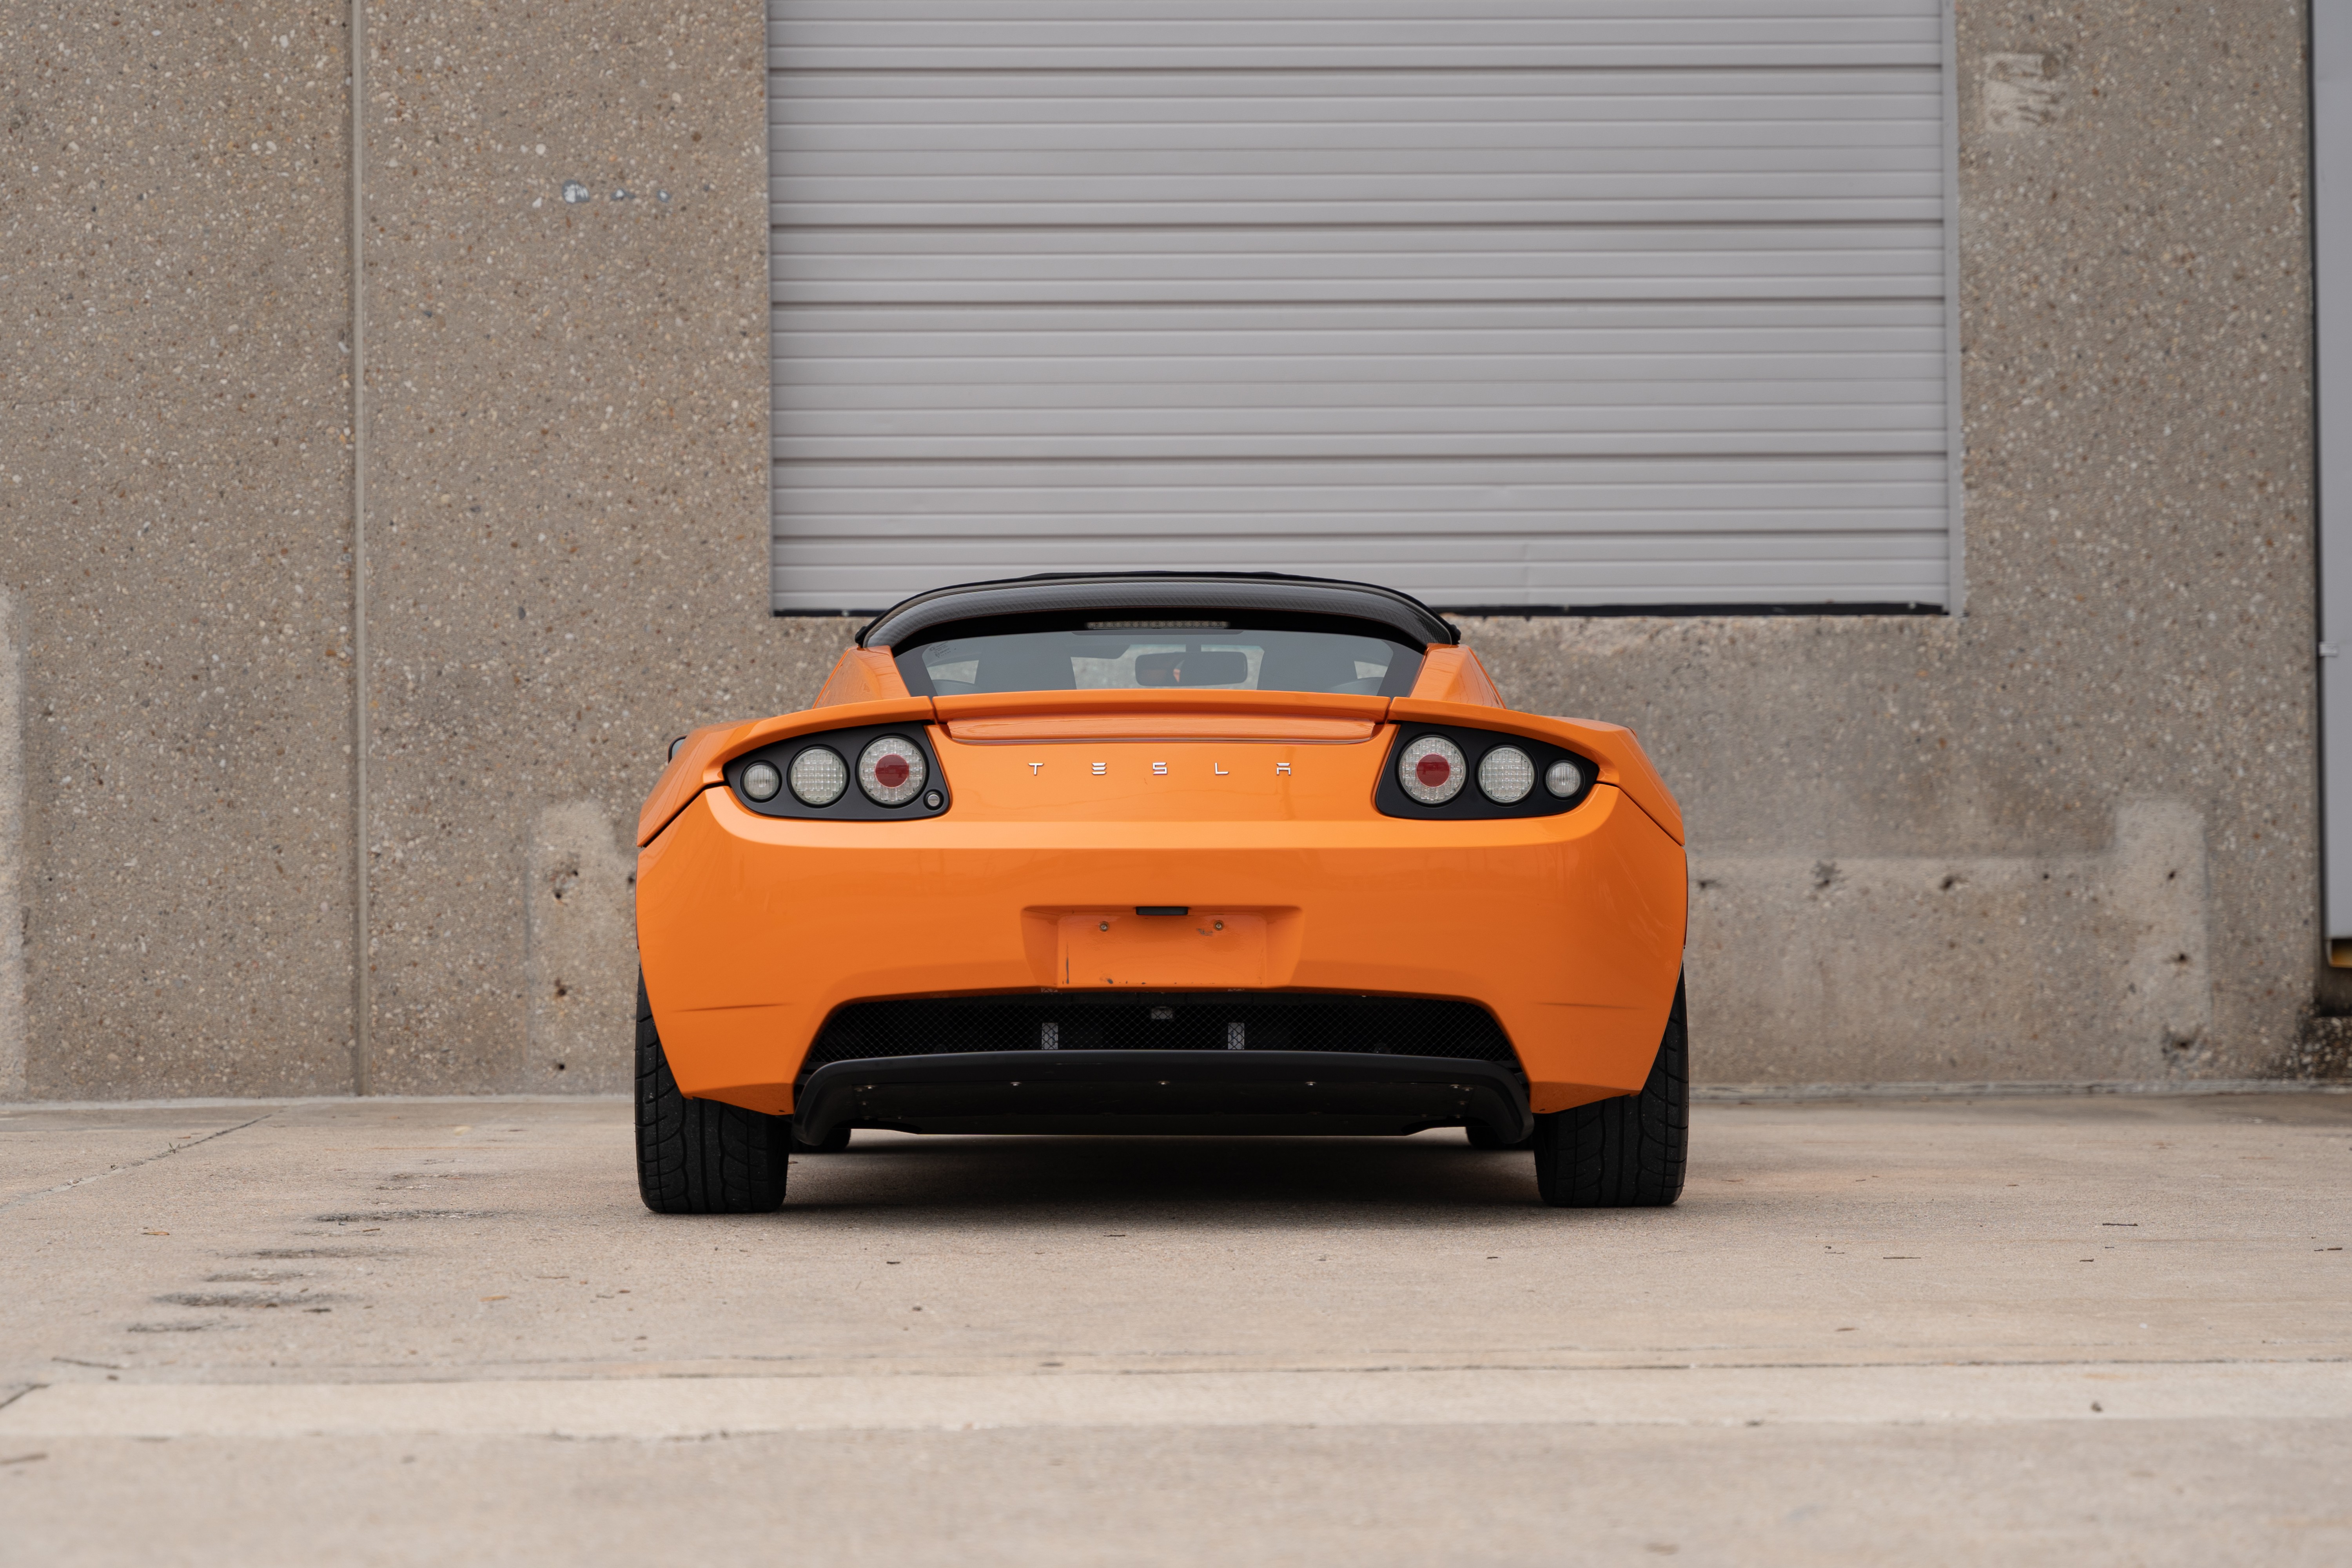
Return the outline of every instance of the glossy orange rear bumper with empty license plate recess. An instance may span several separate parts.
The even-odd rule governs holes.
[[[1197,919],[1141,922],[1138,905]],[[802,1058],[847,1004],[1129,985],[1475,1001],[1529,1105],[1566,1110],[1649,1074],[1684,912],[1682,846],[1613,788],[1564,816],[1470,823],[814,823],[706,790],[637,863],[637,945],[680,1088],[764,1112],[795,1110]],[[1251,947],[1183,971],[1162,957],[1178,926],[1202,952]],[[1138,945],[1117,947],[1122,931]]]

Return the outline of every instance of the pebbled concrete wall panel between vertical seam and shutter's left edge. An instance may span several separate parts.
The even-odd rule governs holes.
[[[637,802],[844,628],[767,616],[764,16],[379,7],[369,52],[374,1084],[621,1088]]]

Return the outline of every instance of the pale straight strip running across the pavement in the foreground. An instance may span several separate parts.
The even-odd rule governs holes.
[[[66,1382],[0,1408],[0,1441],[66,1436],[612,1436],[1004,1427],[1621,1427],[2027,1420],[2345,1420],[2352,1363],[1468,1368],[616,1378],[534,1382]]]

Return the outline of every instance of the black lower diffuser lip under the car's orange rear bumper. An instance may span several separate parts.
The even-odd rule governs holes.
[[[828,1063],[800,1086],[793,1131],[910,1133],[1418,1133],[1534,1119],[1496,1063],[1334,1051],[967,1051]]]

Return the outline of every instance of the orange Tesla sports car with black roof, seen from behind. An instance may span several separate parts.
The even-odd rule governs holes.
[[[1672,1204],[1682,813],[1630,729],[1503,705],[1364,583],[920,595],[637,818],[637,1180],[783,1201],[910,1133],[1416,1133]]]

